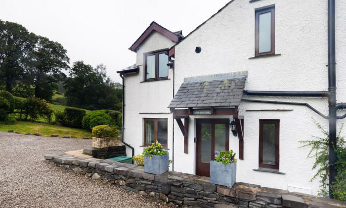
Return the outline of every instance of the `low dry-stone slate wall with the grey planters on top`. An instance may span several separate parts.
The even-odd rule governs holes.
[[[143,167],[93,157],[64,153],[45,159],[57,166],[106,180],[121,188],[176,206],[200,208],[346,208],[346,203],[286,190],[236,183],[232,188],[211,184],[207,177],[169,171],[162,175],[145,173]]]

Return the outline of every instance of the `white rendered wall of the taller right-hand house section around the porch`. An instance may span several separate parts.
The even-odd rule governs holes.
[[[255,8],[275,4],[275,53],[255,56]],[[336,52],[338,102],[346,102],[346,4],[336,5]],[[202,20],[203,21],[203,20]],[[202,22],[201,21],[201,22]],[[202,52],[196,53],[199,46]],[[184,77],[235,71],[249,71],[246,90],[328,91],[327,0],[234,0],[175,47],[175,86]],[[309,103],[325,115],[326,99],[252,99]],[[328,130],[327,120],[304,106],[241,103],[244,115],[244,160],[237,164],[237,181],[287,189],[298,186],[316,195],[319,179],[309,180],[314,159],[306,158],[308,148],[299,141],[323,136],[317,122]],[[246,111],[246,109],[293,109],[293,111]],[[339,111],[343,114],[345,111]],[[259,162],[259,119],[280,119],[280,171],[285,175],[254,171]],[[338,127],[346,120],[338,120]],[[174,121],[174,170],[195,173],[193,118],[189,127],[189,154],[183,153],[182,134]],[[342,132],[346,136],[346,131]],[[179,139],[181,143],[179,143]],[[230,134],[231,149],[238,152],[238,140]],[[181,162],[184,161],[184,162]],[[189,162],[186,162],[189,161]]]

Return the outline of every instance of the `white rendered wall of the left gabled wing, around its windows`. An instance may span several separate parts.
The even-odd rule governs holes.
[[[136,65],[139,74],[125,76],[125,142],[134,148],[134,154],[142,154],[143,148],[143,119],[168,118],[168,148],[172,158],[173,118],[167,106],[173,98],[173,71],[169,69],[169,80],[144,81],[143,53],[168,49],[173,42],[157,32],[142,43],[137,51]],[[145,114],[143,114],[145,113]],[[127,148],[127,155],[132,154]],[[172,167],[171,167],[172,168]]]

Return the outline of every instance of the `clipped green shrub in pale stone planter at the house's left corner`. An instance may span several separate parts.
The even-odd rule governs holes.
[[[118,137],[119,130],[108,125],[99,125],[92,128],[92,148],[101,149],[119,146],[121,144]]]

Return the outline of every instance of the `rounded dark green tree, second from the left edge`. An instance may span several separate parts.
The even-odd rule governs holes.
[[[30,67],[26,69],[27,84],[35,87],[35,97],[50,101],[57,89],[56,83],[65,79],[70,59],[58,42],[39,36],[36,47],[30,52]]]

